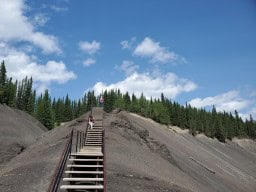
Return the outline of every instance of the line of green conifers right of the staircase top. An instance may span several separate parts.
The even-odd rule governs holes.
[[[161,94],[159,99],[149,99],[141,94],[137,98],[128,92],[122,94],[120,90],[105,91],[104,110],[110,112],[120,108],[144,117],[151,118],[161,124],[174,125],[182,129],[189,129],[192,135],[204,133],[221,142],[234,137],[256,138],[256,122],[250,115],[245,121],[235,111],[234,115],[228,112],[217,112],[215,106],[211,111],[198,109],[186,104],[180,105]]]

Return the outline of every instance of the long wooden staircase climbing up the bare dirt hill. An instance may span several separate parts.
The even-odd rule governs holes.
[[[93,129],[87,130],[83,147],[71,153],[64,172],[61,191],[103,192],[104,154],[103,154],[103,109],[93,108],[95,120]]]

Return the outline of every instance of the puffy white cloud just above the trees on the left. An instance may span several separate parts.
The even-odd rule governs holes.
[[[6,63],[9,77],[21,80],[25,76],[32,76],[38,86],[48,86],[52,82],[63,84],[76,78],[74,72],[68,71],[62,61],[39,64],[36,57],[28,56],[25,52],[17,51],[4,43],[0,46],[0,61],[2,60]]]

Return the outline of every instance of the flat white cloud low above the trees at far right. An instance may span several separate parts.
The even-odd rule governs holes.
[[[217,111],[234,112],[248,107],[250,102],[242,99],[238,91],[229,91],[213,97],[195,98],[189,104],[197,108],[212,107],[215,105]]]

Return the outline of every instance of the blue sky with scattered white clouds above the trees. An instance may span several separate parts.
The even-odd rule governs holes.
[[[0,1],[0,59],[38,92],[163,92],[256,119],[253,0]]]

